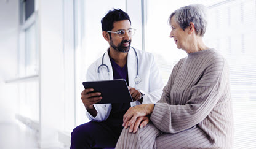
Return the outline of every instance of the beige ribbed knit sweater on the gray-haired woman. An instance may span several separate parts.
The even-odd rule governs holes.
[[[175,134],[177,143],[170,139],[165,143],[163,139],[156,143],[158,148],[233,147],[228,66],[214,49],[190,53],[181,59],[163,91],[150,120],[166,136]]]

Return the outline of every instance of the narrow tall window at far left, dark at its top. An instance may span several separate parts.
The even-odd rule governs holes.
[[[18,47],[19,116],[39,121],[39,50],[38,24],[34,1],[20,1]]]

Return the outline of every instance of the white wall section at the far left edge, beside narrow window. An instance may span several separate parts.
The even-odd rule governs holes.
[[[0,123],[14,120],[17,90],[18,1],[0,0]]]

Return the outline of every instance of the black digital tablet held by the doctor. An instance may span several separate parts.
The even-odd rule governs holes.
[[[84,85],[84,88],[93,88],[93,92],[101,93],[102,100],[97,104],[132,102],[132,96],[130,96],[130,91],[124,79],[82,82],[82,85]]]

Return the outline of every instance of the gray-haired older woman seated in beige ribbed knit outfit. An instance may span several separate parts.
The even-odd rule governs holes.
[[[126,112],[116,148],[233,147],[228,65],[202,41],[204,10],[190,5],[170,15],[170,37],[188,56],[174,66],[158,103]]]

